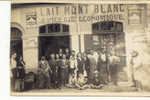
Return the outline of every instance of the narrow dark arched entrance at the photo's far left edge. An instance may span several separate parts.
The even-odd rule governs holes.
[[[23,56],[22,50],[22,33],[18,28],[11,28],[11,41],[10,41],[10,56],[13,53],[17,54],[17,57]]]

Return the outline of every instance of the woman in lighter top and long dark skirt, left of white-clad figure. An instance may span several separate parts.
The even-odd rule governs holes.
[[[66,59],[66,55],[63,54],[63,59],[61,60],[61,86],[64,87],[68,83],[68,67],[69,61]]]

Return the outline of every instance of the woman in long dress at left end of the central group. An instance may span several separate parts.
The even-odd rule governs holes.
[[[41,60],[39,62],[38,67],[38,82],[39,82],[39,88],[50,88],[50,73],[51,68],[48,64],[48,61],[44,56],[41,57]]]

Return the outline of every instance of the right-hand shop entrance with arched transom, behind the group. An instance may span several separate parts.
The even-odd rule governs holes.
[[[123,24],[116,21],[103,21],[92,24],[92,35],[85,35],[85,48],[104,50],[108,59],[111,52],[120,58],[118,80],[127,81],[125,34]]]

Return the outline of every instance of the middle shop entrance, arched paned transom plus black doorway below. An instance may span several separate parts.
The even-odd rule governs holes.
[[[70,49],[69,25],[47,24],[39,29],[39,59],[58,53],[59,49]]]

